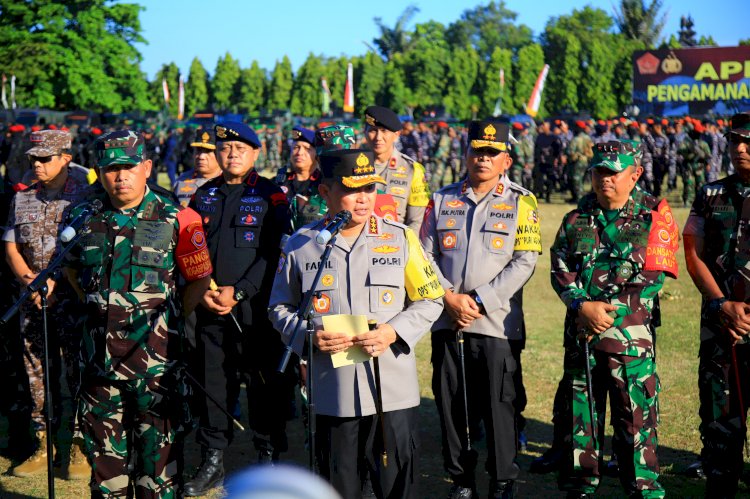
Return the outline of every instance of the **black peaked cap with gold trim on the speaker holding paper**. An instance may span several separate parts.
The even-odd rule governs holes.
[[[364,149],[340,149],[328,151],[320,156],[323,178],[338,180],[350,189],[373,183],[385,184],[383,177],[375,172],[375,156]]]

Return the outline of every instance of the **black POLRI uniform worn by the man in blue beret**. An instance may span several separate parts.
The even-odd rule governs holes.
[[[289,233],[289,203],[271,180],[251,170],[242,184],[230,185],[219,176],[201,186],[190,207],[200,213],[219,286],[234,286],[247,298],[231,317],[198,307],[198,355],[208,392],[232,410],[240,378],[247,379],[250,428],[261,454],[287,450],[285,426],[294,378],[276,372],[283,351],[278,333],[268,321],[267,306],[279,248]],[[196,439],[204,448],[225,449],[232,440],[230,421],[214,404],[204,403]],[[270,441],[258,438],[270,435]]]

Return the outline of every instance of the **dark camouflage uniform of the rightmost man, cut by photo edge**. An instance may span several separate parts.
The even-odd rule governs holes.
[[[750,301],[750,185],[731,175],[704,185],[690,210],[684,235],[706,241],[705,262],[724,296]],[[708,243],[710,241],[710,244]],[[750,344],[747,336],[736,347],[732,338],[703,300],[700,326],[700,432],[701,457],[708,478],[706,497],[734,497],[743,469],[747,401],[750,400]],[[736,355],[733,368],[732,356]],[[736,370],[735,370],[736,369]],[[744,380],[744,381],[740,381]],[[738,397],[738,383],[742,386]],[[744,401],[744,407],[741,402]],[[739,417],[738,417],[739,416]]]

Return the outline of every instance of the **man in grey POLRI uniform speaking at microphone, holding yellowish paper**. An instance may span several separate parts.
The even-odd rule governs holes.
[[[330,212],[348,210],[352,218],[336,236],[315,287],[320,292],[313,303],[318,465],[343,497],[361,497],[365,470],[360,456],[365,456],[377,497],[416,498],[420,395],[415,347],[440,315],[443,290],[418,236],[373,213],[375,184],[385,183],[376,173],[373,153],[332,151],[320,160],[320,191]],[[324,249],[314,239],[327,221],[299,230],[281,254],[269,314],[286,341],[295,328],[306,327],[295,314],[313,285]],[[356,336],[326,330],[322,318],[331,314],[365,315],[377,321],[377,328]],[[302,331],[292,345],[299,354],[305,336]],[[373,362],[368,358],[334,368],[332,354],[346,349],[379,359],[383,421],[375,409]],[[386,435],[380,433],[383,427]]]

